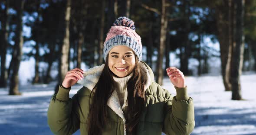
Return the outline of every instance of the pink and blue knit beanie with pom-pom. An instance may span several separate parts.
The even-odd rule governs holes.
[[[118,45],[125,45],[131,48],[135,52],[135,55],[137,55],[139,61],[141,61],[141,37],[135,32],[134,22],[125,16],[116,19],[107,33],[103,48],[105,61],[109,51]]]

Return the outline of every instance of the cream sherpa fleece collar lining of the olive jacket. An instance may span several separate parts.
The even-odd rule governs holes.
[[[98,82],[100,74],[103,71],[105,64],[100,66],[92,67],[85,71],[84,78],[79,80],[77,83],[82,84],[84,87],[87,87],[89,90],[92,90]],[[149,70],[146,65],[142,62],[139,63],[139,66],[143,71],[147,74],[147,82],[144,86],[144,91],[150,86],[151,84],[151,76],[149,74]],[[125,115],[121,109],[121,105],[119,103],[117,92],[114,90],[112,96],[108,99],[107,105],[119,116],[123,119],[124,122],[124,134],[126,135],[126,128],[125,128]]]

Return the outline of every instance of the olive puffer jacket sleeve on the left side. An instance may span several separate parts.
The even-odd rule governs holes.
[[[75,94],[69,98],[69,90],[59,87],[49,104],[48,125],[55,135],[72,135],[79,129],[79,97]]]

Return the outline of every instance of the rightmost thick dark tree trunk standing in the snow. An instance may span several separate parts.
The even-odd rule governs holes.
[[[242,100],[240,76],[243,67],[244,35],[243,35],[243,16],[244,0],[236,0],[236,42],[233,44],[232,63],[231,63],[231,84],[232,100]]]

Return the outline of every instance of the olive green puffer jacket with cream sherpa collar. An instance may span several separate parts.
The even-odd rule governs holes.
[[[85,71],[85,78],[79,80],[82,87],[69,98],[69,90],[59,87],[52,97],[48,108],[48,124],[56,135],[71,135],[80,129],[81,135],[88,135],[86,120],[89,113],[89,95],[98,81],[104,64]],[[151,68],[143,61],[140,67],[147,74],[145,105],[140,116],[137,135],[189,135],[194,129],[193,99],[187,95],[187,87],[177,88],[176,96],[155,83]],[[102,135],[126,135],[126,107],[121,108],[117,93],[114,91],[108,103],[108,124]]]

